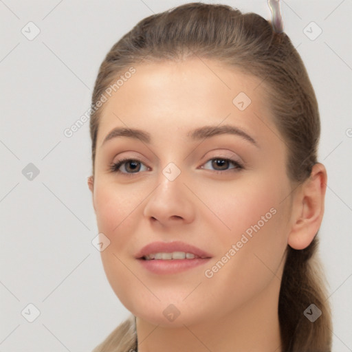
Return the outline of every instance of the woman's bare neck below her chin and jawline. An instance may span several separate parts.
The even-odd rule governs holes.
[[[170,328],[136,318],[138,352],[281,352],[280,283],[274,276],[259,296],[219,320]]]

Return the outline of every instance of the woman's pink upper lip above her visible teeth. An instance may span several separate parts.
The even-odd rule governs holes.
[[[201,258],[211,258],[210,254],[208,254],[206,251],[181,241],[159,241],[148,243],[148,245],[145,245],[139,252],[137,252],[137,254],[135,254],[135,257],[137,259],[142,259],[144,256],[148,256],[149,254],[172,252],[192,253]]]

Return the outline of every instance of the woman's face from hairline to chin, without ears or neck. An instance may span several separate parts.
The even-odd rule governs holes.
[[[205,59],[134,67],[104,104],[91,188],[115,294],[165,326],[277,299],[291,184],[261,80]],[[105,140],[116,128],[140,133]]]

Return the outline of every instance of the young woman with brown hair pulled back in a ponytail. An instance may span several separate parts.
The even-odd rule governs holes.
[[[227,5],[155,14],[91,111],[102,263],[132,314],[94,352],[331,351],[318,104],[287,35]]]

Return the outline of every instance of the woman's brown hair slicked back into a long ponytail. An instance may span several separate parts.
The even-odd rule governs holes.
[[[195,57],[225,63],[261,80],[272,118],[287,146],[287,176],[292,184],[309,178],[312,166],[317,163],[320,137],[316,95],[305,65],[287,34],[276,32],[272,22],[259,14],[242,13],[228,5],[186,3],[146,17],[115,43],[104,58],[92,106],[131,65]],[[101,111],[91,111],[93,177]],[[287,245],[278,300],[283,352],[331,351],[331,309],[317,248],[317,236],[303,250]],[[304,315],[312,303],[322,311],[314,323]],[[131,324],[132,320],[130,327]],[[125,329],[126,325],[120,325],[116,331]],[[120,340],[121,336],[120,333]],[[129,341],[130,337],[125,338]]]

